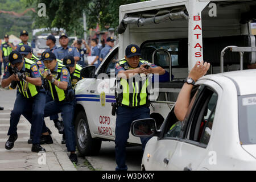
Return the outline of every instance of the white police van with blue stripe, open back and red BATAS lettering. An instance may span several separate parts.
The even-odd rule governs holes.
[[[168,72],[168,81],[154,82],[151,118],[159,129],[196,61],[208,61],[208,74],[241,70],[255,63],[255,36],[250,21],[255,1],[155,0],[119,7],[118,46],[97,70],[82,69],[85,79],[75,88],[75,132],[82,155],[96,155],[102,140],[114,141],[114,63],[137,44],[142,57]],[[140,144],[130,134],[129,143]]]

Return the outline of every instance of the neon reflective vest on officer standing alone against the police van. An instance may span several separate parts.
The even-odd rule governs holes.
[[[141,63],[148,61],[139,60]],[[125,65],[127,61],[125,59],[119,60],[118,64],[125,70],[135,69]],[[136,78],[137,77],[137,78]],[[143,79],[142,79],[143,78]],[[130,84],[129,84],[130,83]],[[150,101],[148,100],[148,77],[141,77],[139,75],[131,77],[129,79],[120,78],[119,84],[122,88],[122,93],[118,94],[117,103],[130,107],[137,106],[149,106]]]

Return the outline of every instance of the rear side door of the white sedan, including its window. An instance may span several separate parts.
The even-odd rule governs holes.
[[[196,170],[209,155],[208,144],[213,129],[214,115],[221,88],[216,82],[200,85],[195,102],[184,119],[181,139],[172,155],[170,170]],[[201,168],[203,169],[203,168]]]

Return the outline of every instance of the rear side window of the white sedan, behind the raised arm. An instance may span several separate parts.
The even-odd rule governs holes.
[[[207,145],[212,131],[217,94],[205,87],[189,116],[187,139]]]

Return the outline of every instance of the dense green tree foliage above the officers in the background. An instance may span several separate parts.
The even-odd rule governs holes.
[[[146,0],[23,0],[27,5],[38,9],[39,3],[46,5],[46,17],[35,15],[36,28],[64,28],[67,32],[82,36],[82,12],[85,11],[89,28],[95,28],[97,23],[101,29],[106,25],[118,26],[119,6]]]

